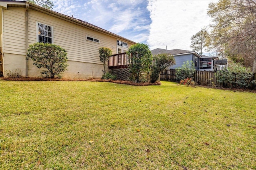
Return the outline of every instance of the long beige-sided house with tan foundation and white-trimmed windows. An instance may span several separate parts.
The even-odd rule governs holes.
[[[1,71],[22,70],[22,76],[42,76],[42,69],[26,61],[28,46],[54,43],[66,49],[68,70],[64,78],[101,78],[99,47],[123,53],[135,42],[92,25],[26,1],[0,0]]]

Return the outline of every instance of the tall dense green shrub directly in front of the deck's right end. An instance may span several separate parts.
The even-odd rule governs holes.
[[[149,73],[152,64],[152,54],[148,45],[143,43],[131,45],[127,55],[131,68],[130,80],[133,82],[145,81],[143,73]]]

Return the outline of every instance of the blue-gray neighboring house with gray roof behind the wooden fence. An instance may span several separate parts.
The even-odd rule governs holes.
[[[186,61],[193,61],[195,64],[195,69],[200,71],[212,71],[214,70],[214,62],[218,60],[218,57],[207,57],[205,55],[199,55],[195,51],[188,50],[166,50],[166,49],[154,49],[151,51],[152,55],[158,55],[162,53],[167,53],[173,55],[176,64],[170,68],[181,67]]]

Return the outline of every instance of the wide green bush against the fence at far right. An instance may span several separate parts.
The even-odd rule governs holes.
[[[226,70],[220,70],[216,74],[217,86],[227,88],[250,88],[255,81],[253,73],[241,64],[230,64]]]

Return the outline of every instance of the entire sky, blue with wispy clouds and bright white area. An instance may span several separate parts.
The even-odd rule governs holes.
[[[190,50],[209,25],[208,0],[52,0],[53,10],[87,21],[150,49]]]

